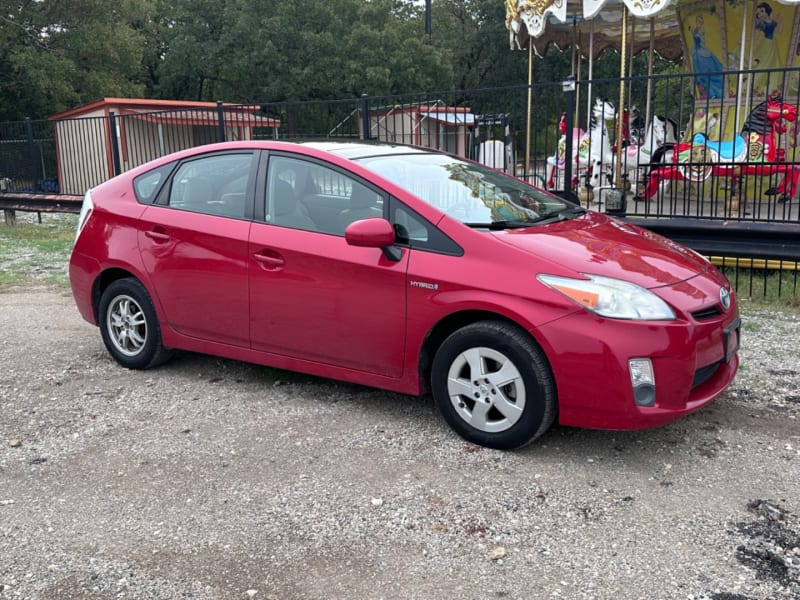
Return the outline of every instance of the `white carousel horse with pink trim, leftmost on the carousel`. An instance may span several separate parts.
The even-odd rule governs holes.
[[[613,153],[611,142],[608,137],[606,122],[613,120],[616,111],[614,106],[605,100],[598,98],[592,108],[592,117],[589,122],[589,130],[583,132],[574,129],[572,132],[572,163],[576,165],[575,181],[580,182],[585,177],[586,187],[597,187],[602,183],[602,175],[606,175],[608,181],[611,179],[611,166]],[[565,116],[562,121],[566,123]],[[559,126],[562,136],[556,149],[556,154],[547,159],[548,173],[546,185],[549,189],[555,187],[558,171],[563,171],[565,166],[566,154],[566,125]]]

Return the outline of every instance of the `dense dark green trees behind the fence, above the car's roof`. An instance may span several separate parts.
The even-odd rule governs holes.
[[[162,9],[167,8],[162,2]],[[445,49],[418,11],[392,0],[330,0],[313,10],[256,0],[174,0],[154,94],[265,102],[450,86]]]

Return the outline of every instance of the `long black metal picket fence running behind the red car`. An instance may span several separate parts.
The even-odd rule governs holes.
[[[800,74],[764,71],[767,89],[782,92],[780,103],[768,103],[748,89],[754,73],[219,102],[159,112],[109,106],[102,117],[0,124],[0,192],[83,194],[153,158],[217,141],[370,139],[468,156],[706,254],[763,261],[763,269],[751,263],[751,273],[779,267],[796,274],[800,242],[791,240],[800,240]],[[725,90],[723,99],[697,98],[710,77]],[[735,132],[744,146],[716,143],[733,142]],[[723,230],[727,246],[719,247]],[[791,281],[790,295],[797,296],[796,275]]]

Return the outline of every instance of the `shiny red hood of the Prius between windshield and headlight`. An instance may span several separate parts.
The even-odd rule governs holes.
[[[708,267],[680,244],[595,212],[493,235],[576,273],[615,277],[648,289],[685,281]]]

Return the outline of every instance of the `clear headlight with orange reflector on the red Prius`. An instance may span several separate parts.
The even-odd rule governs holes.
[[[572,279],[556,275],[537,275],[537,279],[595,314],[611,319],[668,321],[675,313],[653,292],[627,281],[586,275]]]

